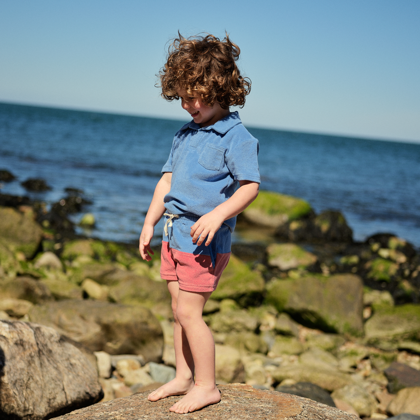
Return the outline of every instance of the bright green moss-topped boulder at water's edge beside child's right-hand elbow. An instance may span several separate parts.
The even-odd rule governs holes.
[[[306,201],[273,191],[260,191],[258,197],[241,213],[249,222],[276,228],[289,220],[299,219],[311,212]]]

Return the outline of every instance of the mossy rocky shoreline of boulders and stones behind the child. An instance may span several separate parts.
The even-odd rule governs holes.
[[[140,396],[173,378],[173,318],[159,249],[146,263],[135,245],[77,236],[67,215],[85,204],[76,189],[50,210],[0,194],[5,418],[56,417],[100,399]],[[261,192],[238,217],[237,232],[243,240],[232,246],[203,311],[218,383],[295,394],[362,418],[420,415],[419,250],[391,234],[354,242],[341,213],[316,215],[303,200],[272,192]],[[66,349],[63,357],[69,352],[94,367],[85,381],[90,391],[83,399],[76,383],[64,385],[65,398],[35,409],[36,388],[51,399],[51,383],[68,383],[72,372],[42,367],[39,354],[51,341]],[[29,375],[35,388],[22,385],[10,362],[28,352],[41,366]],[[13,399],[19,393],[25,399]]]

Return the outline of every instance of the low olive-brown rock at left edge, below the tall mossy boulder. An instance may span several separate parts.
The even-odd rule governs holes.
[[[47,286],[28,276],[18,276],[0,282],[2,297],[29,300],[32,303],[42,303],[53,299]]]

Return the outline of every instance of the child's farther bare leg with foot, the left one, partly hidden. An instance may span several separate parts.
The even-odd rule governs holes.
[[[153,391],[147,397],[150,401],[157,401],[171,395],[185,395],[194,386],[194,361],[188,340],[176,316],[179,284],[177,281],[167,281],[167,283],[172,297],[172,312],[175,320],[173,342],[175,346],[176,377]]]

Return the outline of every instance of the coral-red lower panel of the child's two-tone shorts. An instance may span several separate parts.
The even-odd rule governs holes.
[[[186,291],[215,291],[223,270],[228,265],[230,252],[217,254],[213,268],[210,255],[194,255],[169,247],[162,241],[160,277],[178,281],[179,288]]]

